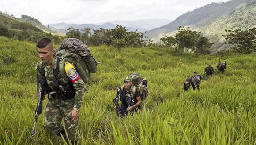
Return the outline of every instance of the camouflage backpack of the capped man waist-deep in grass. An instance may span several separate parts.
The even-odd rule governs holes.
[[[147,80],[142,78],[139,73],[131,73],[129,77],[132,78],[132,84],[139,88],[141,100],[146,100],[148,96]],[[132,92],[135,94],[135,92]]]

